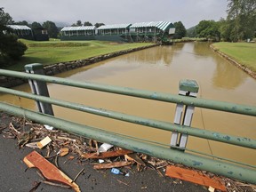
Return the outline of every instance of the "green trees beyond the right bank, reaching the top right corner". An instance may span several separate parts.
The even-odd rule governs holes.
[[[201,20],[187,30],[189,37],[238,42],[256,36],[256,1],[228,0],[228,16],[219,21]]]

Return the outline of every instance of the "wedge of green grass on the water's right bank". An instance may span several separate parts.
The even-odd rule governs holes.
[[[246,68],[256,72],[256,44],[255,43],[227,43],[212,44],[215,49],[227,54]]]

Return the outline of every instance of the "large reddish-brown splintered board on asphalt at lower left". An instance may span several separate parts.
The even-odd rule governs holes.
[[[56,181],[66,184],[73,188],[76,192],[80,191],[80,188],[76,185],[73,180],[61,172],[56,166],[47,161],[44,156],[41,156],[36,151],[31,152],[28,156],[25,156],[23,161],[28,165],[29,168],[36,167],[44,175],[46,180]]]

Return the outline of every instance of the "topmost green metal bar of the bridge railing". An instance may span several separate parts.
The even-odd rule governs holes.
[[[172,103],[180,103],[190,106],[195,106],[199,108],[209,108],[214,110],[226,111],[230,113],[242,114],[247,116],[256,116],[256,107],[253,106],[246,106],[246,105],[239,105],[224,101],[217,101],[217,100],[205,100],[205,99],[198,99],[192,97],[184,97],[180,95],[172,95],[168,93],[161,93],[161,92],[149,92],[144,90],[132,89],[128,87],[119,87],[107,84],[92,84],[88,82],[78,82],[71,79],[64,79],[60,77],[54,76],[42,76],[42,75],[35,75],[35,74],[28,74],[23,72],[17,71],[10,71],[0,69],[0,75],[2,76],[14,76],[19,78],[25,79],[35,79],[38,81],[44,81],[52,84],[65,84],[68,86],[75,86],[79,88],[85,88],[100,92],[112,92],[116,94],[122,95],[129,95],[132,97],[139,97],[149,100],[160,100]]]

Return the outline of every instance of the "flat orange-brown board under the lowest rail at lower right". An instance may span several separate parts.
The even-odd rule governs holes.
[[[168,165],[166,167],[165,175],[180,180],[187,180],[189,182],[204,185],[207,187],[211,186],[212,188],[217,188],[221,191],[227,191],[225,185],[221,182],[220,178],[210,178],[209,176],[194,170],[188,170],[173,165]]]

